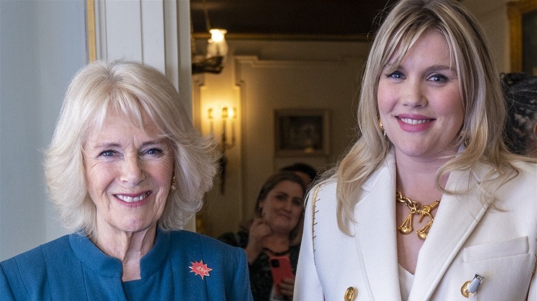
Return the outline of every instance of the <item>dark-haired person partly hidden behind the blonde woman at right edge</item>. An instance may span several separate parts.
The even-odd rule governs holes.
[[[537,158],[537,76],[523,72],[502,75],[507,105],[505,144],[519,155]]]

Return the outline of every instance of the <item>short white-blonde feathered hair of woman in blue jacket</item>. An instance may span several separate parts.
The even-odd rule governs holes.
[[[63,225],[95,234],[96,207],[89,197],[83,144],[88,129],[102,126],[117,110],[143,126],[147,113],[173,146],[176,190],[169,193],[158,220],[162,230],[178,230],[202,205],[212,187],[218,152],[209,137],[194,129],[175,87],[164,74],[129,60],[97,61],[72,79],[52,142],[45,152],[45,181]]]

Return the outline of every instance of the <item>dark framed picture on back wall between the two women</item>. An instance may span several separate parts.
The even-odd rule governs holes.
[[[275,110],[274,124],[276,157],[328,155],[328,110]]]

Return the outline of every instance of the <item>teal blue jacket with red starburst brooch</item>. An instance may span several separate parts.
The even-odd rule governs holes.
[[[252,300],[243,249],[193,232],[158,231],[141,279],[70,234],[0,263],[0,300]],[[202,277],[203,276],[203,277]]]

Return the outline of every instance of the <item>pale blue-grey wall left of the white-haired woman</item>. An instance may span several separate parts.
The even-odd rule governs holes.
[[[0,1],[0,259],[64,233],[45,192],[43,149],[86,63],[84,14],[82,0]]]

